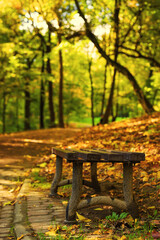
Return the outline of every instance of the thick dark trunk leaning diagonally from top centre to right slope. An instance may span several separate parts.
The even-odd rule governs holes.
[[[80,9],[78,0],[75,0],[75,4],[77,6],[79,15],[83,18],[83,20],[85,22],[87,37],[93,42],[93,44],[95,45],[95,47],[97,48],[97,50],[99,51],[101,56],[103,58],[105,58],[110,65],[114,66],[117,69],[118,72],[122,73],[124,76],[126,76],[128,78],[128,80],[130,81],[130,83],[132,84],[132,86],[134,88],[135,94],[137,95],[138,100],[139,100],[140,104],[142,105],[144,111],[146,113],[148,113],[148,114],[154,112],[155,110],[154,110],[152,104],[149,102],[149,100],[144,95],[142,89],[140,88],[140,86],[137,83],[137,81],[134,78],[134,76],[131,74],[131,72],[126,67],[124,67],[120,63],[115,62],[114,60],[112,60],[110,58],[110,56],[108,56],[106,54],[106,52],[101,48],[101,46],[98,43],[98,40],[97,40],[96,36],[90,30],[90,27],[89,27],[89,24],[87,22],[87,19],[85,18],[83,12]]]

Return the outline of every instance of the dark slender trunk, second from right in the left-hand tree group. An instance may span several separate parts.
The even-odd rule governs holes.
[[[47,53],[51,52],[51,32],[48,32],[48,44],[47,44]],[[50,56],[47,58],[47,73],[51,74],[51,61]],[[50,127],[55,127],[55,112],[54,112],[54,103],[53,103],[53,83],[52,81],[48,82],[48,102],[49,102],[49,113],[50,113]]]

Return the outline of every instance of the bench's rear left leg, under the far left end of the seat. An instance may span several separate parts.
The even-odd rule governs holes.
[[[57,156],[56,157],[56,172],[55,172],[54,179],[53,179],[53,182],[51,185],[50,197],[57,194],[58,184],[62,177],[62,163],[63,163],[63,158]]]

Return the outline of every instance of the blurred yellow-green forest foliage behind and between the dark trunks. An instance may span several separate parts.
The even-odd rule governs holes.
[[[84,36],[84,22],[77,14],[75,2],[1,1],[0,7],[0,131],[14,132],[24,129],[26,88],[30,94],[30,128],[39,128],[41,78],[44,80],[44,125],[50,125],[49,81],[53,83],[53,101],[56,123],[58,122],[60,49],[63,55],[63,108],[66,125],[77,119],[90,117],[89,58],[92,59],[94,113],[95,117],[99,118],[104,89],[105,108],[107,106],[114,69],[107,66],[104,86],[106,61]],[[91,30],[100,46],[113,59],[115,1],[81,1],[80,7],[88,16]],[[118,62],[135,76],[157,111],[160,111],[159,13],[158,0],[121,1],[118,55]],[[58,21],[61,22],[61,27]],[[46,50],[48,28],[52,32],[50,53]],[[62,33],[60,45],[57,42],[58,31]],[[80,36],[77,33],[80,33]],[[74,34],[77,34],[77,37]],[[44,73],[41,73],[42,48],[45,50]],[[51,74],[46,72],[48,57],[51,60]],[[135,117],[143,114],[144,110],[138,101],[129,81],[121,73],[117,74],[112,117]]]

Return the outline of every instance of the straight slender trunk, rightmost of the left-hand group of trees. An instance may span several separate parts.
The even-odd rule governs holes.
[[[62,42],[61,33],[58,33],[58,43]],[[63,120],[63,55],[59,50],[59,127],[64,127]]]

